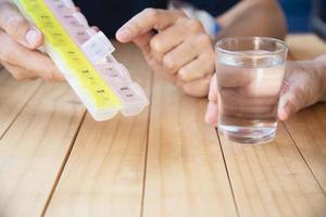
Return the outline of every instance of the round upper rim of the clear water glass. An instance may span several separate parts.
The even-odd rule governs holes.
[[[279,43],[283,46],[283,48],[280,48],[279,50],[276,50],[276,51],[268,51],[266,53],[261,53],[261,54],[254,54],[254,53],[244,53],[243,51],[230,51],[230,50],[227,50],[227,49],[223,49],[221,48],[221,44],[227,42],[227,41],[235,41],[235,40],[252,40],[252,41],[262,41],[262,40],[267,40],[267,41],[271,41],[271,42],[276,42],[276,43]],[[287,52],[289,50],[289,46],[286,41],[284,40],[280,40],[280,39],[277,39],[277,38],[272,38],[272,37],[261,37],[261,36],[244,36],[244,37],[227,37],[227,38],[224,38],[224,39],[221,39],[218,40],[216,43],[215,43],[215,50],[216,51],[220,51],[220,52],[223,52],[223,53],[226,53],[226,54],[231,54],[231,55],[255,55],[255,56],[268,56],[268,55],[277,55],[277,54],[280,54],[283,52]]]

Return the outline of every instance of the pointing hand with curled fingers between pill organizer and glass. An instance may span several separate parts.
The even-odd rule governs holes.
[[[148,64],[192,97],[205,97],[214,73],[214,49],[200,22],[180,11],[146,9],[117,33],[135,42]]]

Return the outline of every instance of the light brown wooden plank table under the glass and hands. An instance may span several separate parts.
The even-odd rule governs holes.
[[[289,37],[296,59],[326,52]],[[66,84],[0,73],[0,216],[326,216],[326,105],[240,146],[203,122],[205,100],[154,75],[134,46],[117,58],[147,90],[135,117],[96,123]]]

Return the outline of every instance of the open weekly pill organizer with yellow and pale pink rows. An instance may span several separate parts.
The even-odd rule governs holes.
[[[139,114],[149,101],[112,52],[102,31],[89,27],[72,0],[14,0],[45,36],[45,49],[91,116],[106,120],[120,111]]]

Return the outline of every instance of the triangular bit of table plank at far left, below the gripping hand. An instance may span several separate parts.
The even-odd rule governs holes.
[[[0,139],[40,85],[40,80],[17,81],[0,68]]]

